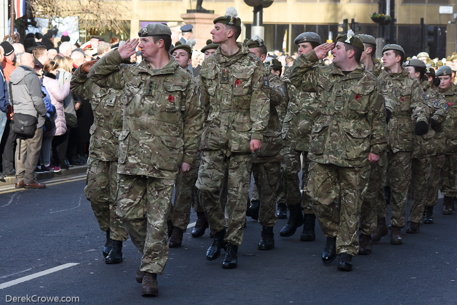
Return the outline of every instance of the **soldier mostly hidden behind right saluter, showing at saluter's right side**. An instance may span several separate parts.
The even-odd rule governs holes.
[[[376,58],[376,39],[370,35],[357,35],[364,43],[361,61],[365,64],[365,69],[373,73],[379,80],[381,74],[387,74],[382,69],[382,65]],[[385,76],[385,75],[384,75]],[[394,113],[396,108],[393,84],[385,77],[380,80],[381,93],[385,100],[386,119],[388,123],[390,113]],[[358,254],[370,254],[373,245],[371,235],[376,232],[378,218],[385,218],[387,215],[378,215],[377,209],[384,201],[384,187],[387,172],[387,151],[381,153],[379,161],[371,164],[370,179],[368,182],[367,193],[362,204],[360,215],[360,236],[358,238]],[[382,211],[380,212],[382,213]]]

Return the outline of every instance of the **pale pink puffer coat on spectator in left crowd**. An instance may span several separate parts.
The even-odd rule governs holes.
[[[48,74],[50,75],[50,74]],[[55,129],[46,132],[43,136],[61,136],[67,132],[67,121],[65,120],[65,113],[63,108],[63,100],[70,94],[70,83],[65,83],[63,88],[60,89],[60,85],[57,79],[51,77],[43,77],[43,85],[48,90],[51,98],[52,105],[55,106],[56,115],[54,116]]]

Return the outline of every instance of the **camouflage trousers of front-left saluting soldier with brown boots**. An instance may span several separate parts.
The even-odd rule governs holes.
[[[143,255],[141,271],[161,275],[168,260],[173,179],[118,174],[117,215]]]

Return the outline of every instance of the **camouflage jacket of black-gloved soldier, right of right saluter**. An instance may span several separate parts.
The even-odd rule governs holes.
[[[388,123],[388,142],[390,149],[413,151],[415,145],[414,128],[418,121],[429,121],[429,109],[420,83],[409,77],[409,72],[402,68],[398,75],[386,73],[379,76],[379,81],[389,79],[394,84],[394,97],[397,109],[390,115]]]

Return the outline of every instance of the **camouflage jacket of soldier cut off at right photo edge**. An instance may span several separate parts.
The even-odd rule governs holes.
[[[446,138],[446,155],[457,153],[457,86],[451,83],[450,87],[440,93],[446,99],[445,107],[448,109],[448,115],[442,124]]]

